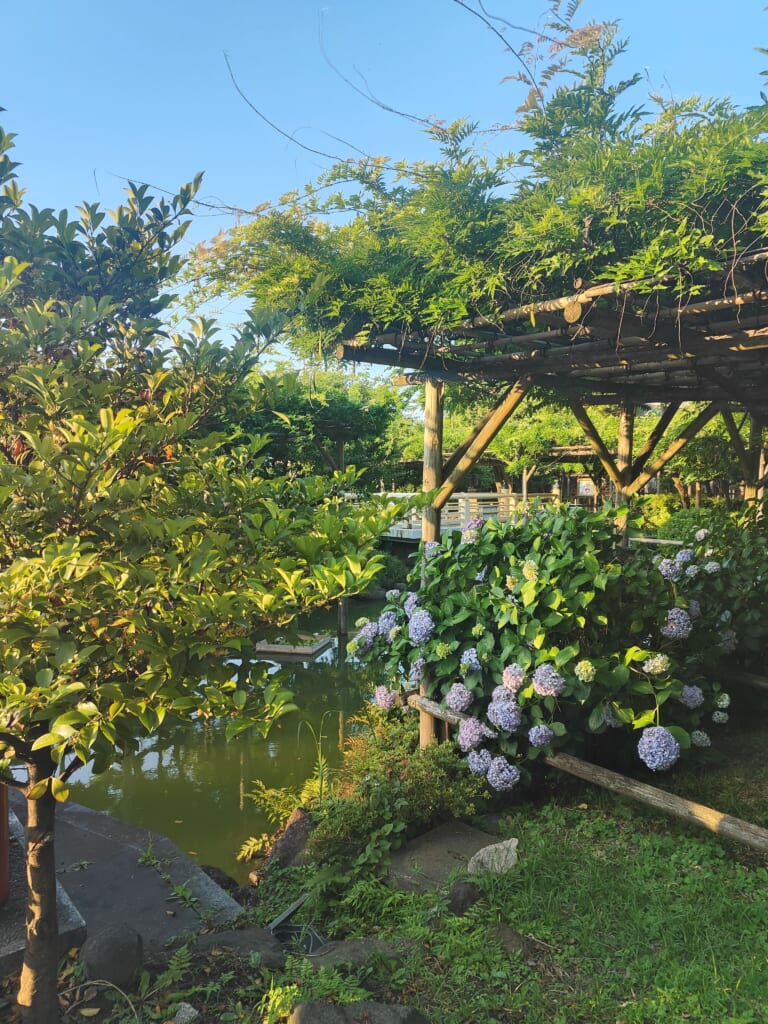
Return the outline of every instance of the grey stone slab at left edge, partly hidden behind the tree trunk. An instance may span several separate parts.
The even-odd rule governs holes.
[[[10,887],[7,901],[0,906],[0,977],[13,974],[22,967],[27,921],[27,870],[25,864],[24,828],[13,811],[8,812],[10,841]],[[56,882],[58,912],[58,951],[62,955],[71,946],[85,939],[85,921],[70,899],[60,882]]]

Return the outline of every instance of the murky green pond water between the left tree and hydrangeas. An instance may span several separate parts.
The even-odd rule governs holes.
[[[370,602],[353,604],[349,622],[373,617],[379,609]],[[76,774],[72,799],[161,833],[198,863],[245,881],[250,867],[236,860],[238,850],[249,836],[273,830],[248,799],[253,780],[299,786],[312,774],[321,732],[324,755],[331,765],[338,763],[349,719],[383,681],[376,668],[341,663],[334,612],[312,616],[299,629],[332,635],[334,644],[313,662],[281,664],[299,711],[280,719],[266,739],[253,732],[227,743],[218,723],[178,727],[146,739],[136,755],[103,775],[89,776],[85,769]],[[296,635],[284,631],[265,639],[290,642]]]

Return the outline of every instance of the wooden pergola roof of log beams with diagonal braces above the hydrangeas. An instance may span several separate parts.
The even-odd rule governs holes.
[[[537,388],[568,404],[620,501],[636,495],[717,415],[746,497],[761,493],[768,482],[768,249],[691,279],[684,297],[675,288],[679,280],[676,274],[594,287],[577,282],[570,295],[500,307],[494,319],[476,316],[440,332],[412,326],[339,346],[343,359],[401,368],[402,383],[424,385],[424,489],[439,488],[424,516],[424,540],[438,538],[440,509]],[[443,390],[456,382],[501,393],[443,464]],[[702,404],[682,430],[671,431],[689,402]],[[595,404],[617,407],[615,455],[590,418]],[[635,451],[635,409],[648,404],[659,407],[659,418]],[[745,443],[737,422],[744,417]]]

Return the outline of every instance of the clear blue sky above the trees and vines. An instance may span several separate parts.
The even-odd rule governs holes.
[[[489,14],[526,27],[544,6],[484,0]],[[654,89],[759,101],[762,0],[584,0],[580,17],[618,18],[631,39],[623,70],[644,71]],[[455,0],[16,0],[4,4],[2,38],[0,118],[18,136],[28,200],[55,208],[111,208],[125,178],[173,190],[205,171],[203,198],[252,209],[328,166],[248,108],[224,54],[266,117],[338,157],[436,155],[416,124],[341,75],[390,106],[446,121],[506,123],[523,96],[502,81],[512,56]],[[487,144],[513,147],[504,134]],[[202,214],[191,241],[234,223]]]

